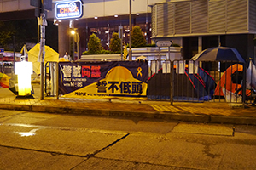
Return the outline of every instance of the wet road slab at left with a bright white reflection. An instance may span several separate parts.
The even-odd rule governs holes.
[[[86,157],[102,150],[125,135],[126,133],[102,130],[4,123],[0,126],[0,145]],[[71,148],[70,145],[73,147]]]

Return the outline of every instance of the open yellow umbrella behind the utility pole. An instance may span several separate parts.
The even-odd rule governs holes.
[[[38,62],[38,54],[40,51],[40,44],[37,43],[31,50],[28,51],[28,61],[33,64],[33,71],[40,74],[40,62]],[[59,54],[54,49],[45,45],[44,65],[48,61],[58,62]]]

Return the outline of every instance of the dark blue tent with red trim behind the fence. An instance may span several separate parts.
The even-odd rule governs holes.
[[[177,74],[174,67],[173,98],[176,100],[209,100],[214,94],[215,81],[207,71],[198,69],[197,74],[189,74],[186,66],[184,74]],[[170,73],[157,74],[148,78],[148,99],[170,99]]]

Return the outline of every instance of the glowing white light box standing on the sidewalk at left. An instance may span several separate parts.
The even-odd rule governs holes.
[[[31,95],[32,62],[16,62],[15,74],[18,75],[18,94],[20,96]]]

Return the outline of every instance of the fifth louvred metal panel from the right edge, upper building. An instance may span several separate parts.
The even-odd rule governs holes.
[[[175,3],[175,33],[190,33],[190,3]]]

